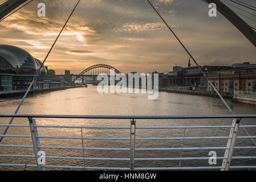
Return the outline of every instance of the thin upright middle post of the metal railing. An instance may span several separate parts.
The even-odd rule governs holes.
[[[130,170],[134,169],[135,158],[135,137],[136,137],[136,121],[131,120],[131,133],[130,133]]]

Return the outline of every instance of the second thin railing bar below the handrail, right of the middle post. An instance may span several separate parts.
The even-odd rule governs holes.
[[[229,139],[231,137],[151,137],[151,138],[136,138],[136,140],[182,140],[182,139]],[[251,138],[251,137],[248,137]]]

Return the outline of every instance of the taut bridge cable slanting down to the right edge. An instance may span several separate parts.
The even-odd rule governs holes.
[[[181,44],[181,46],[185,49],[185,51],[188,53],[188,55],[191,57],[191,59],[194,61],[194,63],[197,65],[197,68],[201,71],[201,73],[204,75],[204,77],[206,78],[206,80],[209,82],[209,84],[212,86],[212,88],[214,89],[214,91],[218,94],[218,96],[221,98],[222,102],[224,102],[225,106],[227,107],[227,109],[229,109],[230,113],[234,114],[234,111],[230,108],[230,106],[227,104],[227,102],[224,100],[224,98],[221,96],[220,92],[218,92],[218,90],[216,89],[216,87],[213,85],[213,83],[209,80],[208,76],[206,76],[205,72],[202,70],[202,68],[200,67],[200,65],[197,64],[197,61],[194,59],[194,57],[191,55],[191,53],[188,51],[188,49],[186,49],[186,47],[184,46],[184,44],[181,42],[181,40],[178,38],[178,36],[174,33],[174,31],[172,30],[172,28],[170,28],[170,26],[165,22],[165,20],[162,18],[162,16],[159,14],[159,12],[155,9],[155,7],[152,5],[152,3],[147,0],[148,3],[152,6],[152,8],[156,11],[156,13],[160,16],[160,18],[162,19],[162,21],[166,24],[166,26],[169,28],[169,30],[172,32],[172,34],[175,36],[175,38],[178,40],[178,42]],[[241,120],[241,118],[239,119]],[[240,124],[240,126],[242,127],[242,125]],[[242,127],[243,130],[245,130],[245,132],[247,133],[247,135],[249,137],[251,137],[250,133],[245,129],[245,127]],[[253,141],[253,143],[256,145],[256,142],[253,138],[251,138],[251,140]]]

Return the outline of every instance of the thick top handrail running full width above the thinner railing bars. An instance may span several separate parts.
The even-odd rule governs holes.
[[[50,115],[0,114],[0,118],[81,118],[81,119],[197,119],[197,118],[256,118],[256,114],[223,115]]]

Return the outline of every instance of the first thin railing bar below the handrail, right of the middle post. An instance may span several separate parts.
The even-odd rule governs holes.
[[[221,128],[221,127],[231,128],[233,126],[231,125],[227,125],[227,126],[136,126],[136,129],[197,129],[197,128]]]

